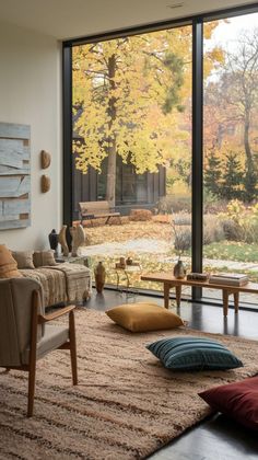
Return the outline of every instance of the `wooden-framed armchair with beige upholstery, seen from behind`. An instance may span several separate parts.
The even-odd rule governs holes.
[[[70,349],[78,384],[74,310],[45,314],[40,285],[31,278],[0,279],[0,367],[28,372],[27,416],[33,415],[36,361],[54,349]],[[69,313],[69,326],[49,324]]]

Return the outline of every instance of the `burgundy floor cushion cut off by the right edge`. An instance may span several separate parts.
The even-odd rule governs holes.
[[[211,407],[258,430],[258,377],[199,393]]]

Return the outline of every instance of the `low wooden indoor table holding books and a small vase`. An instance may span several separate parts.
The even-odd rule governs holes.
[[[177,279],[171,273],[151,273],[149,275],[142,275],[141,279],[144,281],[155,281],[155,283],[163,283],[164,285],[164,307],[168,308],[169,304],[169,290],[175,288],[176,290],[176,304],[177,307],[180,306],[181,299],[181,286],[194,286],[194,287],[201,287],[201,288],[209,288],[209,289],[221,289],[222,290],[222,298],[223,298],[223,313],[224,317],[227,317],[228,311],[228,297],[231,295],[234,296],[234,307],[235,313],[238,312],[239,307],[239,292],[249,292],[249,294],[258,294],[258,284],[248,283],[245,286],[226,286],[223,284],[211,284],[209,281],[197,281],[197,280],[188,280]]]

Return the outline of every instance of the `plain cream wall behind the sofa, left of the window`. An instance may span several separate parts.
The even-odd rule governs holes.
[[[0,23],[0,122],[31,125],[32,225],[0,231],[0,243],[13,250],[48,248],[48,233],[61,225],[60,64],[56,39]],[[40,150],[51,153],[45,171]],[[43,173],[51,177],[45,194]]]

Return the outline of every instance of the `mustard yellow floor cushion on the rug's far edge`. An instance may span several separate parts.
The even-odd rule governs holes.
[[[131,332],[148,332],[174,329],[184,325],[172,311],[156,303],[139,302],[114,307],[106,314],[117,324]]]

